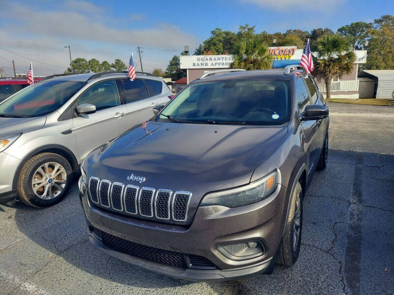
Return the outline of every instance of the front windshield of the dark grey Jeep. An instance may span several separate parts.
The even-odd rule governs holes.
[[[290,118],[290,81],[277,79],[194,83],[162,111],[158,121],[280,125]]]

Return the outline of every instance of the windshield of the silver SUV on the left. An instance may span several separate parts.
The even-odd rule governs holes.
[[[0,103],[0,117],[39,117],[50,114],[71,98],[86,82],[43,81],[15,93]]]

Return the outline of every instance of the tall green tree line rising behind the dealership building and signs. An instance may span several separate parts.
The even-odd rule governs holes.
[[[336,33],[328,28],[311,31],[288,29],[284,33],[268,33],[265,30],[256,32],[255,28],[256,26],[249,24],[240,26],[237,32],[216,28],[196,48],[194,55],[232,54],[236,58],[248,54],[249,51],[249,54],[255,53],[255,57],[265,57],[262,46],[266,48],[296,45],[298,48],[303,48],[308,38],[311,50],[318,51],[318,40],[322,41],[321,37],[337,35],[344,38],[345,45],[341,44],[341,46],[343,45],[348,50],[367,50],[366,63],[361,64],[363,69],[394,69],[394,16],[392,15],[383,15],[375,19],[373,23],[354,22],[337,29]],[[185,54],[181,53],[181,55]],[[260,64],[260,68],[266,68],[268,61],[269,57],[265,57],[264,60],[254,59],[256,64]],[[236,62],[240,62],[237,65],[242,66],[241,59],[236,59]],[[259,67],[256,64],[253,68]],[[174,56],[169,61],[165,76],[172,80],[186,76],[185,71],[179,67],[178,56]]]

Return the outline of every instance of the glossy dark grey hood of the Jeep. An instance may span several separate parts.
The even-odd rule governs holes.
[[[288,127],[148,122],[92,152],[84,166],[96,176],[156,189],[208,191],[250,182]],[[126,177],[145,177],[139,184]],[[199,198],[200,199],[200,198]]]

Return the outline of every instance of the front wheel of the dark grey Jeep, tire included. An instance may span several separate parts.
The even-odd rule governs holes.
[[[298,218],[296,218],[298,216]],[[296,226],[295,220],[298,220],[299,227]],[[298,237],[295,242],[295,231],[298,228]],[[302,188],[297,182],[296,188],[292,195],[289,217],[285,225],[285,232],[279,247],[277,263],[284,266],[292,266],[296,262],[301,245],[302,234]]]

